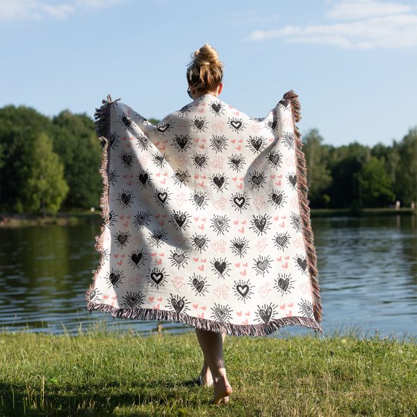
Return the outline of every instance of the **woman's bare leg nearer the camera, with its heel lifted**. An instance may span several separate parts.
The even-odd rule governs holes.
[[[209,332],[207,330],[195,329],[199,345],[202,348],[204,359],[211,370],[214,386],[214,397],[212,404],[227,402],[231,394],[231,386],[227,380],[226,368],[223,359],[223,334],[220,332]]]

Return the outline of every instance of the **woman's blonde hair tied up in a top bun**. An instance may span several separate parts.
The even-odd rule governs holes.
[[[187,81],[199,92],[214,91],[222,82],[223,63],[218,51],[209,44],[191,54],[193,60],[188,64]]]

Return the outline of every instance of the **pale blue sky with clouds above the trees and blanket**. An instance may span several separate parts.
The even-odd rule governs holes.
[[[161,119],[190,101],[206,42],[219,98],[251,117],[295,90],[301,133],[327,144],[391,145],[417,124],[413,0],[0,0],[0,106],[92,117],[110,93]]]

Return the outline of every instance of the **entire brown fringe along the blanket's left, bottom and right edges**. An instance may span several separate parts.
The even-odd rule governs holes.
[[[313,233],[311,231],[310,224],[310,208],[309,200],[307,199],[308,188],[306,186],[306,165],[304,152],[302,152],[302,142],[300,140],[300,133],[295,125],[296,122],[300,120],[300,103],[297,99],[297,95],[293,90],[286,92],[284,99],[288,99],[291,102],[291,109],[293,113],[293,124],[294,131],[297,143],[297,181],[300,181],[300,186],[298,187],[299,201],[300,201],[300,213],[302,215],[302,222],[304,224],[304,244],[306,245],[307,252],[307,263],[309,266],[309,272],[311,277],[311,285],[313,287],[313,314],[314,319],[306,316],[299,317],[283,317],[276,320],[270,320],[268,323],[261,323],[259,325],[235,325],[227,322],[218,322],[214,320],[209,320],[206,318],[198,318],[193,316],[188,316],[188,314],[177,313],[175,311],[167,310],[158,310],[158,309],[142,309],[140,307],[135,307],[133,309],[120,309],[113,307],[109,304],[96,304],[92,302],[92,297],[90,297],[91,292],[95,289],[97,277],[99,274],[99,268],[93,271],[94,277],[92,284],[85,292],[85,301],[87,310],[92,313],[92,311],[104,311],[106,313],[111,313],[113,318],[124,318],[131,320],[145,320],[145,321],[171,321],[179,322],[184,325],[189,325],[196,327],[197,329],[204,329],[211,332],[222,332],[231,334],[234,336],[268,336],[277,331],[280,327],[284,326],[304,326],[314,329],[314,332],[323,332],[322,327],[319,322],[321,321],[321,302],[320,302],[320,293],[318,287],[318,270],[316,268],[316,250],[313,245]],[[110,141],[110,108],[115,101],[120,99],[112,100],[111,95],[107,96],[106,100],[102,100],[103,105],[100,108],[96,108],[95,113],[95,131],[101,142],[102,154],[101,154],[101,168],[99,172],[101,173],[101,179],[103,180],[103,191],[100,197],[100,207],[101,207],[101,217],[104,219],[104,222],[101,224],[100,233],[95,237],[95,249],[100,252],[100,261],[99,265],[103,264],[104,261],[104,237],[105,231],[108,224],[108,168],[109,168],[109,158],[111,146],[109,146]]]

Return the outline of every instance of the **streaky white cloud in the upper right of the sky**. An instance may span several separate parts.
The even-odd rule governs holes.
[[[247,40],[281,38],[285,43],[327,44],[345,49],[415,47],[417,14],[404,13],[409,10],[409,6],[375,0],[344,1],[336,3],[327,15],[334,19],[364,19],[253,31]]]

